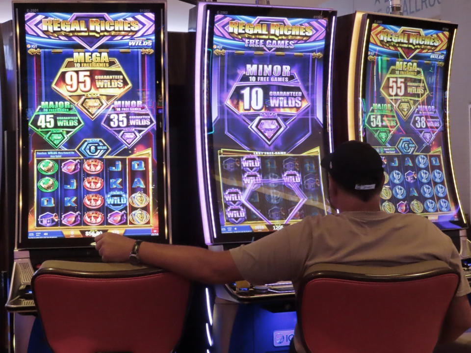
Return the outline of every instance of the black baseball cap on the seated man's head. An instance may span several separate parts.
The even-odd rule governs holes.
[[[345,142],[322,158],[320,165],[345,190],[372,190],[383,181],[383,160],[366,142]]]

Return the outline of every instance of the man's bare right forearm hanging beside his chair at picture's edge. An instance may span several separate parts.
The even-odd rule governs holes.
[[[469,328],[471,328],[471,307],[468,297],[454,297],[446,312],[438,343],[453,342]]]

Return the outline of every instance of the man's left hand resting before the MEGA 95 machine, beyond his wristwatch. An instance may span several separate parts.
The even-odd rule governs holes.
[[[134,239],[115,233],[103,233],[95,237],[95,249],[104,262],[125,262],[134,246]]]

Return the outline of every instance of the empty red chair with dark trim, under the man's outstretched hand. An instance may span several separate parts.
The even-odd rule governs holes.
[[[54,353],[169,353],[182,334],[190,283],[161,269],[45,261],[31,282]]]

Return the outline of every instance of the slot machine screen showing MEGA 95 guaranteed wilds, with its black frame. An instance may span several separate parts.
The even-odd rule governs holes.
[[[21,246],[89,245],[105,231],[166,239],[165,4],[14,11]]]

